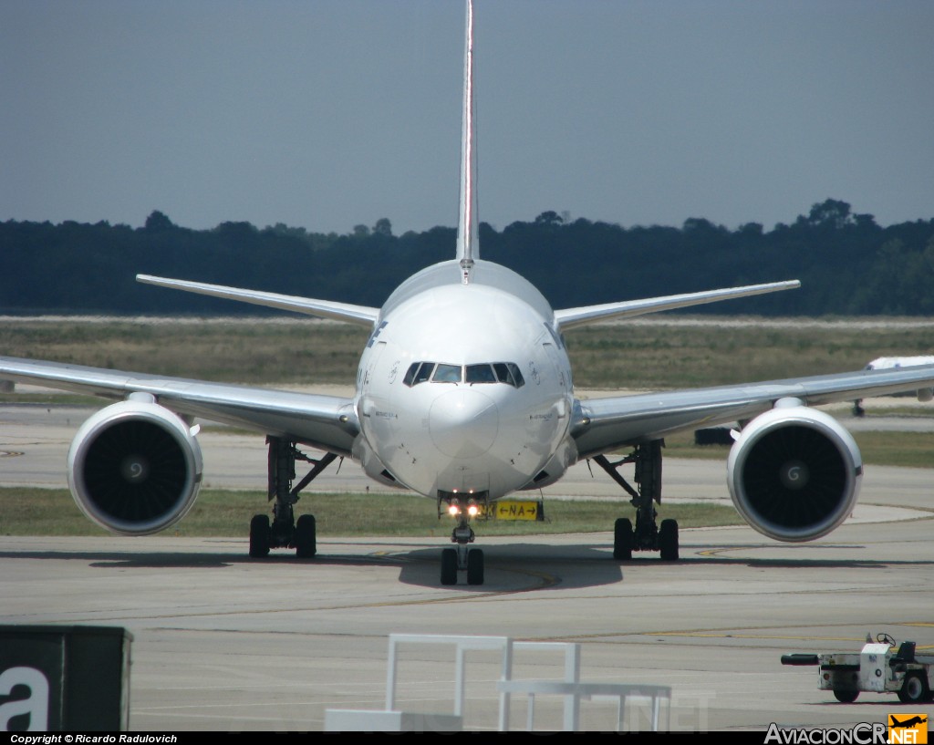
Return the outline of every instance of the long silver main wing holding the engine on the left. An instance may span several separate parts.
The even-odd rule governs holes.
[[[140,372],[0,357],[0,379],[109,399],[148,393],[166,409],[263,432],[349,456],[360,431],[353,400],[268,388],[205,383]]]

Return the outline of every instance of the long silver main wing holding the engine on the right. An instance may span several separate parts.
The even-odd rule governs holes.
[[[934,365],[923,365],[574,401],[572,435],[585,458],[682,429],[751,419],[781,399],[815,406],[912,390],[929,395],[931,387]]]

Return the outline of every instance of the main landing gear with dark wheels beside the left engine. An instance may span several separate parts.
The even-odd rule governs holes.
[[[312,558],[318,553],[315,515],[303,514],[295,521],[292,510],[299,499],[299,492],[311,484],[321,471],[324,471],[337,458],[333,453],[325,453],[318,460],[307,457],[290,440],[279,437],[267,437],[269,445],[269,500],[276,499],[273,505],[273,521],[268,514],[255,514],[249,523],[249,555],[262,558],[269,555],[272,548],[294,548],[299,558]],[[313,468],[295,486],[295,461],[304,460]]]

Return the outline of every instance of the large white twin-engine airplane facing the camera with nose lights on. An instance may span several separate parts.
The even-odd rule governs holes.
[[[839,527],[856,502],[862,460],[838,422],[814,404],[897,391],[930,396],[934,365],[857,371],[741,386],[574,397],[562,332],[613,318],[799,287],[777,282],[553,311],[521,276],[480,259],[474,140],[474,14],[467,2],[456,256],[407,279],[382,308],[139,275],[150,285],[323,316],[372,330],[353,398],[221,385],[55,362],[0,358],[0,378],[92,393],[111,403],[78,429],[68,483],[78,507],[122,535],[177,523],[202,478],[194,417],[253,429],[269,443],[273,521],[256,515],[249,553],[316,554],[315,520],[297,522],[299,492],[337,457],[352,457],[383,484],[436,502],[455,518],[441,583],[484,581],[471,520],[498,499],[558,481],[592,459],[631,496],[635,526],[616,520],[616,560],[633,551],[678,558],[673,520],[657,524],[661,444],[675,431],[748,421],[729,455],[736,509],[766,536],[810,541]],[[298,483],[298,446],[326,455]],[[631,451],[611,462],[607,454]],[[633,487],[619,473],[635,467]]]

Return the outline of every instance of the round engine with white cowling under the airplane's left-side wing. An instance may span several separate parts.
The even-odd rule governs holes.
[[[151,397],[120,401],[78,429],[68,452],[68,485],[81,512],[97,525],[148,535],[175,525],[191,509],[201,463],[201,446],[177,415]]]

